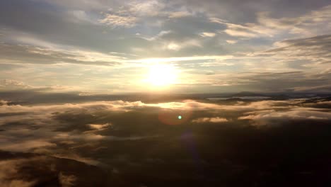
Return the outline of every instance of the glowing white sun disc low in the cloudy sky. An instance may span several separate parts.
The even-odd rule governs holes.
[[[154,64],[149,67],[149,77],[147,81],[153,86],[168,86],[175,84],[177,71],[170,64]]]

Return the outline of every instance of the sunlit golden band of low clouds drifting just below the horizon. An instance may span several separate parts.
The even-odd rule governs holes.
[[[11,115],[3,116],[0,120],[0,125],[14,124],[24,120],[25,124],[31,124],[32,126],[24,126],[22,124],[21,126],[24,128],[21,128],[21,130],[11,128],[6,129],[5,137],[9,142],[3,142],[1,147],[12,151],[18,151],[21,149],[21,147],[25,147],[25,151],[29,151],[40,147],[56,146],[53,143],[54,141],[63,142],[70,140],[73,142],[86,142],[99,140],[139,140],[141,138],[150,138],[154,136],[136,135],[130,137],[115,137],[112,135],[99,135],[98,131],[101,130],[100,132],[102,132],[104,130],[108,130],[110,123],[113,123],[111,120],[108,123],[89,123],[90,121],[93,122],[92,119],[95,118],[94,116],[98,116],[100,111],[106,113],[127,113],[130,111],[135,112],[140,110],[156,110],[157,113],[158,110],[163,109],[174,111],[174,113],[176,113],[175,111],[178,110],[191,112],[208,111],[208,113],[227,113],[228,111],[232,111],[236,113],[243,113],[242,116],[238,116],[238,120],[252,120],[258,124],[272,124],[274,120],[278,119],[331,120],[330,113],[325,111],[325,109],[299,107],[300,103],[302,102],[303,101],[300,100],[255,101],[251,103],[241,103],[240,105],[221,105],[215,103],[201,103],[190,100],[169,103],[103,101],[50,106],[8,106],[6,103],[4,103],[2,106],[0,106],[0,113],[18,113],[18,115],[16,115],[16,118],[12,118]],[[85,124],[86,128],[80,126],[80,131],[78,131],[79,129],[77,129],[76,125],[74,124],[79,123],[79,121],[74,119],[82,118],[79,117],[81,115],[85,116],[83,118],[91,118],[91,120],[82,121],[81,125]],[[108,120],[105,119],[102,121]],[[221,117],[202,117],[194,118],[192,123],[224,123],[228,121],[229,120],[227,118]],[[62,125],[57,126],[59,124]],[[111,125],[111,127],[117,128],[117,125]],[[33,128],[37,128],[37,130],[33,130]],[[63,132],[54,133],[55,129]],[[30,140],[29,138],[23,138],[23,140],[19,142],[13,142],[13,140],[11,140],[12,138],[15,139],[17,135],[24,135],[23,137],[25,137],[25,135],[30,135],[32,132],[34,133],[33,140]]]

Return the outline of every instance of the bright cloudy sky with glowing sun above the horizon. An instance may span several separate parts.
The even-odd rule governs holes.
[[[0,1],[0,91],[331,91],[330,1]]]

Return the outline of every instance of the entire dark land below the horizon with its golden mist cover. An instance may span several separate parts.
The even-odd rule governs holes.
[[[30,94],[1,101],[4,186],[330,183],[325,95]]]

